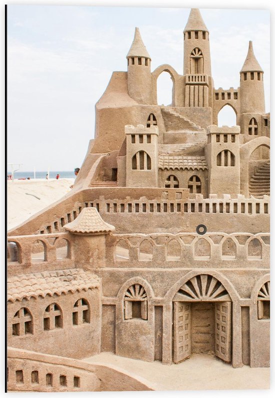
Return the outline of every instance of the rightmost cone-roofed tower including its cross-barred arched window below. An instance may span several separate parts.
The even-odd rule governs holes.
[[[244,142],[266,135],[263,71],[249,42],[248,53],[240,71],[240,127]]]

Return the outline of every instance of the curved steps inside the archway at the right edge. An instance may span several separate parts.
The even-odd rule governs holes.
[[[270,161],[259,166],[250,178],[249,193],[255,198],[270,195]]]

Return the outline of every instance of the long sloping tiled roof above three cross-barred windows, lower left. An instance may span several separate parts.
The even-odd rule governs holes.
[[[99,286],[99,279],[80,268],[22,274],[7,279],[7,300],[16,301],[30,297],[52,296],[71,291],[87,290]]]

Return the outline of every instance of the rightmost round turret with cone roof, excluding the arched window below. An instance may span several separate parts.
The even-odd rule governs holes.
[[[248,52],[240,71],[240,113],[264,113],[263,71],[249,42]]]

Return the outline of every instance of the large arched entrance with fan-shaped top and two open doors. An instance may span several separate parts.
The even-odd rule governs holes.
[[[172,303],[173,362],[193,353],[231,362],[232,302],[223,284],[213,275],[195,275],[178,289]]]

